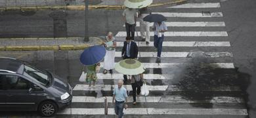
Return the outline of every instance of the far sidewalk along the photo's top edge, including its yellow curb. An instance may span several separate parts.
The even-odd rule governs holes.
[[[123,9],[125,0],[89,0],[89,9]],[[150,7],[181,4],[186,0],[153,0]],[[84,10],[84,0],[0,0],[0,10]]]

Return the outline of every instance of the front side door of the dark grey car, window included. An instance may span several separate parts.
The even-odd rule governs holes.
[[[37,94],[31,91],[33,85],[27,79],[17,75],[6,75],[6,104],[10,110],[35,110]]]

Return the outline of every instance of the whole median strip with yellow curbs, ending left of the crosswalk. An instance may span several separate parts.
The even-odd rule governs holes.
[[[63,38],[14,38],[0,39],[0,51],[22,50],[83,50],[93,45],[101,45],[102,41],[90,37],[85,43],[83,37]]]

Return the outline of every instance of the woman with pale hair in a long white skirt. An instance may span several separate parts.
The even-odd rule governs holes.
[[[106,48],[106,55],[104,57],[104,71],[103,73],[106,74],[108,71],[113,73],[112,69],[115,67],[115,52],[116,52],[116,39],[113,37],[113,33],[109,32],[108,36],[106,36],[106,42],[104,43]]]

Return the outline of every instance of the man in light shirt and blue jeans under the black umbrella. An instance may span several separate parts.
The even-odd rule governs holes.
[[[163,46],[163,33],[167,31],[165,22],[154,22],[154,47],[158,49],[158,58],[161,58],[161,50]]]

